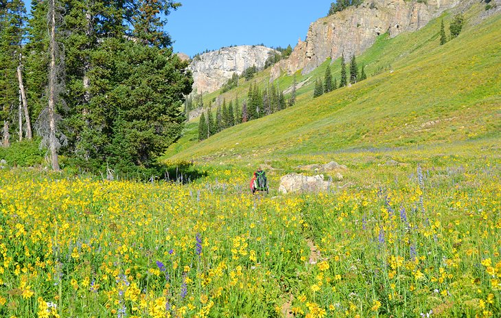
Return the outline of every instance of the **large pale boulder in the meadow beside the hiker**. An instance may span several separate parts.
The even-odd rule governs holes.
[[[290,173],[280,178],[279,192],[322,192],[329,188],[331,183],[323,180],[323,174],[314,177],[303,174]]]

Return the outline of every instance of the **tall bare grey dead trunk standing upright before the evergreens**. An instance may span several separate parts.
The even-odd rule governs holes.
[[[58,171],[58,141],[56,139],[56,5],[55,0],[49,0],[49,19],[47,21],[49,28],[49,149],[51,152],[52,170]]]

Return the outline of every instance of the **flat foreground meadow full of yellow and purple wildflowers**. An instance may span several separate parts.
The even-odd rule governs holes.
[[[444,158],[267,196],[3,170],[0,316],[500,317],[500,166]]]

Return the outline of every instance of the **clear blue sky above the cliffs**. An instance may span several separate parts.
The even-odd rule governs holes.
[[[30,0],[25,1],[29,8]],[[229,45],[294,47],[334,0],[179,1],[183,6],[167,16],[166,30],[174,52],[194,56]]]

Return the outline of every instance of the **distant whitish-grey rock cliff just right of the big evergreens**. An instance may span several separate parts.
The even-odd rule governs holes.
[[[264,67],[266,59],[275,52],[274,49],[260,45],[240,45],[202,54],[194,58],[190,65],[194,79],[193,89],[197,93],[216,91],[233,73],[240,75],[253,65]]]

